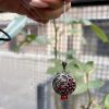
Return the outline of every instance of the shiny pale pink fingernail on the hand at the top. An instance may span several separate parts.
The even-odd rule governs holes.
[[[43,2],[41,0],[32,0],[31,5],[36,8],[48,8],[48,4]]]

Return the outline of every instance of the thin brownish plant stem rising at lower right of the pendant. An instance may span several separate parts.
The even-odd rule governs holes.
[[[86,109],[89,109],[92,104],[93,104],[93,100],[92,100],[92,94],[90,94],[90,90],[89,90],[89,78],[88,78],[88,74],[86,74],[86,81],[87,81],[87,93],[88,93],[88,105],[86,107]]]

